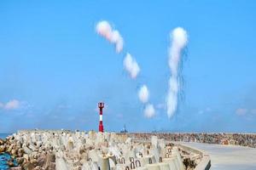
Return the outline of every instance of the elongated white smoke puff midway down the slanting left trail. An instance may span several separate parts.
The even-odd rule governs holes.
[[[132,58],[131,54],[127,53],[124,59],[125,70],[129,72],[131,78],[136,78],[140,67],[137,65],[137,61]]]

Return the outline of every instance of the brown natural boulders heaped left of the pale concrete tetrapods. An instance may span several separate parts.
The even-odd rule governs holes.
[[[34,133],[18,133],[0,140],[0,153],[9,153],[11,170],[55,169],[55,154],[42,141],[33,138]],[[31,138],[32,137],[32,138]],[[17,166],[14,162],[18,163]]]

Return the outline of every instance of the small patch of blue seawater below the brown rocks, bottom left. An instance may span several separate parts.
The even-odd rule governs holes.
[[[0,170],[8,170],[9,167],[16,167],[18,163],[8,153],[0,154]]]

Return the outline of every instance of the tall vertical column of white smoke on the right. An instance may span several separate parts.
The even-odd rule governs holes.
[[[177,111],[177,95],[180,90],[179,82],[179,64],[182,57],[183,48],[188,43],[187,31],[181,27],[175,28],[170,37],[172,39],[172,45],[169,48],[169,67],[171,69],[171,77],[169,80],[169,89],[166,98],[167,103],[167,115],[172,117],[173,114]]]

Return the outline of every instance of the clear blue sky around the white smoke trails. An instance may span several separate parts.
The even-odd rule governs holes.
[[[0,132],[20,128],[104,127],[119,131],[255,132],[256,3],[254,1],[1,1]],[[108,20],[124,50],[96,34]],[[183,64],[185,98],[168,119],[167,49],[177,26],[189,34]],[[140,65],[136,80],[123,59]],[[146,83],[156,116],[143,116],[137,98]]]

